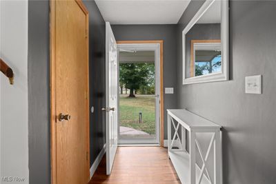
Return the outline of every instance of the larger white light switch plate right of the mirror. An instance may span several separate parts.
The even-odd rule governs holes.
[[[246,93],[262,94],[262,75],[246,76]]]

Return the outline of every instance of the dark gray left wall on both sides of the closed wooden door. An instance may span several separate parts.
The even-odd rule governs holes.
[[[90,165],[105,143],[105,23],[95,1],[90,14]],[[28,101],[30,183],[50,183],[49,1],[28,2]]]

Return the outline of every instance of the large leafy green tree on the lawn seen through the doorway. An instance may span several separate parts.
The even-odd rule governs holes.
[[[130,89],[129,97],[135,97],[134,90],[147,84],[148,63],[120,63],[120,84]]]

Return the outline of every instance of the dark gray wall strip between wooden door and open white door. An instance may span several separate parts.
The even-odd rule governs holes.
[[[106,143],[106,22],[95,1],[83,1],[89,12],[90,166]]]

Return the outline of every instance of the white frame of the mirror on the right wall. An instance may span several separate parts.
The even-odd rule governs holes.
[[[186,34],[188,31],[193,28],[193,25],[197,23],[197,21],[204,15],[204,13],[212,6],[215,1],[221,2],[221,72],[206,74],[202,76],[193,76],[190,78],[186,78]],[[228,72],[228,45],[229,45],[229,8],[228,8],[228,0],[206,0],[205,3],[199,8],[193,19],[190,20],[186,28],[184,28],[182,32],[182,68],[183,68],[183,76],[182,81],[183,84],[190,83],[206,83],[213,81],[228,81],[229,80],[229,72]]]

